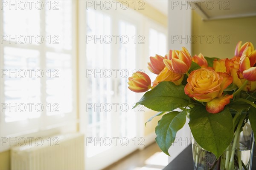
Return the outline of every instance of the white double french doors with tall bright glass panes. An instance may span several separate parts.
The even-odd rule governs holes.
[[[116,12],[89,8],[83,15],[79,78],[86,84],[81,88],[86,96],[80,98],[80,131],[86,135],[86,169],[101,169],[143,146],[138,110],[132,109],[136,94],[127,84],[136,71],[137,43],[143,37],[134,19]]]

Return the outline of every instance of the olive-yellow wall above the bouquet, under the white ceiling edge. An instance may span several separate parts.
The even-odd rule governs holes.
[[[232,58],[239,40],[243,43],[250,41],[256,46],[256,17],[202,21],[201,17],[192,11],[192,35],[195,37],[205,36],[202,43],[200,43],[199,37],[197,42],[192,43],[192,55],[201,52],[207,57]],[[210,44],[209,35],[215,39],[212,44]],[[208,43],[207,36],[209,36]],[[227,40],[227,38],[230,39]],[[220,39],[221,42],[219,42]],[[227,40],[229,44],[225,44],[224,40]]]

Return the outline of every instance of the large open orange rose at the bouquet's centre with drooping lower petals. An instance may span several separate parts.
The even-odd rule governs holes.
[[[190,73],[185,86],[185,93],[191,98],[201,102],[210,102],[217,98],[222,103],[222,108],[218,109],[218,112],[224,109],[224,106],[229,103],[227,98],[232,98],[230,95],[223,98],[223,90],[232,83],[232,77],[227,73],[215,72],[212,69],[197,69]],[[227,102],[228,101],[228,102]],[[215,104],[218,102],[212,101],[211,105],[215,108]],[[216,113],[216,109],[208,107],[208,112]]]

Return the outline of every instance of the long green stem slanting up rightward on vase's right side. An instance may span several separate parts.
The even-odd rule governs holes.
[[[230,155],[230,164],[229,164],[229,167],[228,167],[229,170],[233,170],[234,156],[235,156],[235,152],[236,152],[236,142],[237,142],[237,140],[239,140],[240,129],[241,129],[241,125],[244,121],[245,116],[246,116],[246,114],[241,114],[239,124],[236,128],[235,137],[233,139],[232,152],[231,152],[231,155]]]

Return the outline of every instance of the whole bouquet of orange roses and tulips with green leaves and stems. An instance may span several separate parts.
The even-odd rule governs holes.
[[[144,105],[159,111],[154,117],[163,115],[155,133],[164,153],[169,155],[168,149],[188,117],[198,147],[212,153],[218,167],[247,169],[239,153],[239,137],[247,122],[256,134],[256,50],[250,42],[241,43],[231,59],[201,53],[191,57],[185,47],[169,50],[164,57],[150,57],[148,69],[157,75],[152,85],[144,72],[129,77],[131,91],[150,89],[135,107]],[[194,152],[198,156],[198,150]]]

